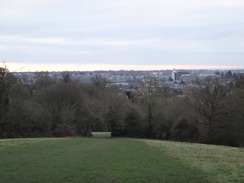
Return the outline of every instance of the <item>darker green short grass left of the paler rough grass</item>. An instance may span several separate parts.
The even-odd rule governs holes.
[[[120,138],[0,140],[0,182],[211,181],[212,175],[158,147]]]

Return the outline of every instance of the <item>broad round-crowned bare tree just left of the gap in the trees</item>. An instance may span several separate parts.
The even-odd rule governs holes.
[[[45,106],[52,118],[53,130],[59,127],[74,129],[74,134],[87,136],[90,123],[85,120],[89,115],[86,110],[86,95],[77,83],[59,83],[42,90],[40,103]]]

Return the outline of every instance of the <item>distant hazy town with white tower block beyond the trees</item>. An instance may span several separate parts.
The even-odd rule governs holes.
[[[32,85],[41,72],[12,72],[25,85]],[[42,72],[51,78],[61,79],[64,72]],[[244,70],[155,70],[155,71],[66,71],[73,80],[90,83],[91,78],[99,76],[108,81],[109,85],[124,90],[138,89],[149,80],[157,80],[171,88],[184,88],[195,85],[205,78],[220,78],[226,84],[234,82],[244,75]]]

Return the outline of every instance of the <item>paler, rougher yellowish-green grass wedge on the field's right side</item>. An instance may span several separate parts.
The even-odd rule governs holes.
[[[244,148],[195,143],[140,140],[163,154],[207,174],[210,182],[244,183]]]

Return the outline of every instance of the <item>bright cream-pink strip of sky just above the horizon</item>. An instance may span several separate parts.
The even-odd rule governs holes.
[[[153,70],[241,70],[244,66],[230,65],[126,65],[126,64],[30,64],[4,63],[10,72],[61,71],[153,71]]]

